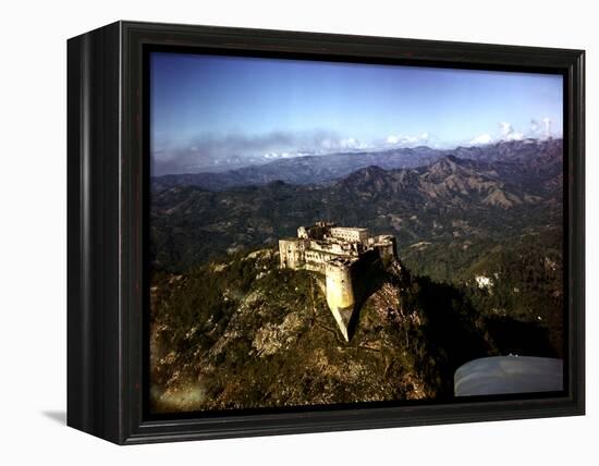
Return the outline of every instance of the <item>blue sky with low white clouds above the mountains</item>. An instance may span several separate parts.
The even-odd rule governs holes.
[[[156,174],[561,136],[558,75],[151,54]]]

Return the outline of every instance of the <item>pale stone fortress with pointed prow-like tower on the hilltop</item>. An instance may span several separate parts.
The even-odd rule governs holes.
[[[297,237],[279,240],[279,253],[281,268],[325,275],[327,304],[346,341],[357,315],[359,271],[379,260],[396,258],[393,236],[370,236],[367,229],[328,222],[300,226]]]

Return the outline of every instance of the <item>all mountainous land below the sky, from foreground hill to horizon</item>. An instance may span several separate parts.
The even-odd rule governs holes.
[[[563,357],[561,139],[411,150],[152,180],[155,412],[452,400],[468,360]],[[278,266],[318,220],[398,240],[350,342],[317,279]]]

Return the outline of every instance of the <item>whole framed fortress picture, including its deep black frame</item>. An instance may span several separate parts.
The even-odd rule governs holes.
[[[68,42],[68,424],[584,414],[584,52],[119,22]]]

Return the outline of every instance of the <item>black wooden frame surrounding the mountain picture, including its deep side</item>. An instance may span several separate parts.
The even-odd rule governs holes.
[[[468,403],[150,418],[148,47],[564,76],[564,393]],[[68,425],[119,444],[574,416],[585,413],[582,50],[117,22],[68,41]]]

